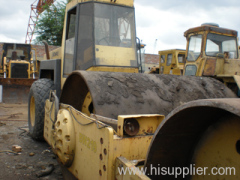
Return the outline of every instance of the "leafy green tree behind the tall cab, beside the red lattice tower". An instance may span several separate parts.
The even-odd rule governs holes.
[[[47,41],[49,45],[61,46],[66,4],[57,2],[55,5],[45,5],[44,12],[39,16],[36,24],[35,44]]]

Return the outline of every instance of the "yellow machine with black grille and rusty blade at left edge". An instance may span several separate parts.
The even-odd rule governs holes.
[[[38,76],[36,50],[29,44],[4,43],[0,59],[2,102],[26,103],[31,84]]]

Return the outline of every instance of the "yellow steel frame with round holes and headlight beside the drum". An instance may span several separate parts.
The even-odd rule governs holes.
[[[46,101],[44,137],[61,163],[78,179],[122,179],[124,175],[119,174],[118,168],[143,162],[152,136],[164,119],[153,114],[119,116],[115,131],[94,116],[86,116],[65,104],[61,104],[55,120],[53,103]],[[140,130],[130,137],[124,134],[123,127],[132,118],[138,121]],[[128,163],[121,162],[122,158]],[[137,175],[132,178],[139,179]]]

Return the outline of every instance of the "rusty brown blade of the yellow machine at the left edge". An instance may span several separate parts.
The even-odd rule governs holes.
[[[27,103],[30,87],[35,80],[0,78],[0,103]]]

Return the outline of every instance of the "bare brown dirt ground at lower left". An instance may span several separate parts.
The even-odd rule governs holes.
[[[14,145],[22,151],[13,152]],[[63,179],[49,145],[28,135],[27,104],[0,103],[0,159],[0,180]]]

